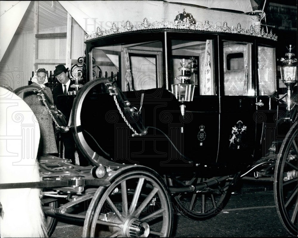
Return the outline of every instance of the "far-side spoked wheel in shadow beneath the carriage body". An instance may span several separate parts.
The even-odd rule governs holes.
[[[177,179],[170,179],[170,185],[181,186],[179,183],[184,185],[195,185],[207,180],[206,178],[200,178],[197,175],[189,177],[188,179]],[[202,191],[175,194],[173,198],[178,212],[191,220],[207,220],[214,217],[224,209],[231,197],[230,183],[231,180],[222,181],[219,184]]]

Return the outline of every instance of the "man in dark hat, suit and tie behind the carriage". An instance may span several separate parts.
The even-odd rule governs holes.
[[[63,64],[56,66],[53,76],[56,77],[59,84],[53,89],[53,100],[57,109],[60,110],[66,117],[66,122],[69,122],[70,112],[72,109],[72,104],[74,97],[66,97],[69,91],[75,90],[75,88],[70,87],[75,81],[69,80],[68,68],[65,68]],[[61,139],[64,144],[64,157],[66,159],[71,159],[72,163],[75,164],[75,140],[73,138],[72,132],[61,133]],[[80,166],[88,166],[88,161],[77,149],[79,155]]]

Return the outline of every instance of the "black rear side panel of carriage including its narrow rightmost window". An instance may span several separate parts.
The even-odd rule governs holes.
[[[258,157],[264,156],[271,145],[272,138],[278,139],[276,121],[285,117],[285,108],[274,98],[277,92],[275,75],[275,48],[257,46],[257,143]],[[277,114],[277,111],[279,114]],[[284,135],[280,135],[283,138]],[[260,146],[258,146],[260,145]]]

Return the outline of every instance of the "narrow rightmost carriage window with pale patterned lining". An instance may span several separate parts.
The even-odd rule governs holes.
[[[258,46],[259,95],[276,91],[274,48]]]

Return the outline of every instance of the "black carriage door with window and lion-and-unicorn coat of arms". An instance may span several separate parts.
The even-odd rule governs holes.
[[[234,41],[223,41],[220,47],[223,61],[218,162],[243,163],[254,155],[256,94],[251,49],[251,43]]]

